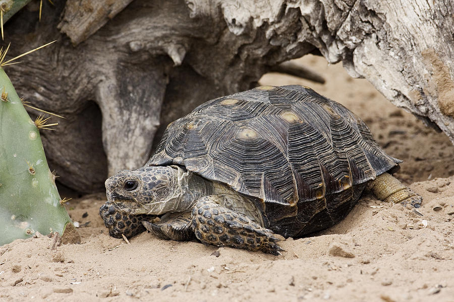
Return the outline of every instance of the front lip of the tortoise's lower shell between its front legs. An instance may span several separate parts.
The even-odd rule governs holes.
[[[169,213],[158,222],[142,221],[145,229],[159,238],[176,241],[194,239],[191,228],[191,213]]]

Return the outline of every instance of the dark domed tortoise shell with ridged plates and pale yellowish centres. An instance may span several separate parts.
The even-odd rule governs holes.
[[[312,89],[289,85],[258,87],[200,105],[167,126],[147,165],[185,166],[255,197],[270,224],[290,223],[286,228],[293,231],[286,232],[295,236],[295,216],[306,223],[329,210],[329,203],[335,203],[334,210],[358,199],[361,184],[400,162],[385,154],[350,110]],[[310,207],[310,214],[298,214],[301,207]]]

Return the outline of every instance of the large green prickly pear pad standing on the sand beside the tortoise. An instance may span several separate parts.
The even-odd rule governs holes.
[[[0,67],[0,246],[74,226],[47,166],[39,130]]]

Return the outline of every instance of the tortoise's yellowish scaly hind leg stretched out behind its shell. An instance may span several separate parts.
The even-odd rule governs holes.
[[[382,201],[411,204],[416,208],[421,206],[422,197],[388,173],[377,176],[368,187]]]

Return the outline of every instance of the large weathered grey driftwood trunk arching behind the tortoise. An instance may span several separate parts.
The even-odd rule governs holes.
[[[34,105],[67,117],[44,144],[60,181],[77,190],[141,166],[153,137],[196,105],[312,51],[454,141],[451,1],[135,0],[76,47],[56,26],[77,43],[100,23],[78,30],[68,10],[59,18],[65,3],[55,5],[39,24],[23,10],[6,25],[15,53],[59,39],[9,74]]]

